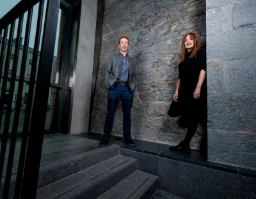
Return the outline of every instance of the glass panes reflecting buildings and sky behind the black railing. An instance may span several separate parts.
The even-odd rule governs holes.
[[[42,31],[40,35],[40,45],[39,45],[39,52],[38,52],[38,61],[36,66],[36,77],[38,73],[38,65],[40,61],[40,50],[42,47],[42,37],[44,33],[44,24],[45,24],[45,11],[47,8],[47,1],[45,1],[44,5],[44,15],[42,20]],[[38,20],[38,9],[39,9],[39,3],[35,4],[33,7],[33,13],[32,13],[32,20],[31,20],[31,32],[29,33],[29,48],[28,48],[28,55],[26,57],[26,68],[25,68],[25,82],[23,84],[22,89],[22,103],[20,108],[20,115],[19,115],[19,126],[18,126],[18,132],[22,132],[24,128],[24,119],[27,111],[27,105],[28,105],[28,92],[29,92],[29,80],[31,78],[31,67],[32,67],[32,61],[33,61],[33,51],[34,51],[34,45],[35,45],[35,36],[36,36],[36,27],[37,27],[37,20]],[[24,40],[26,38],[26,26],[27,26],[27,19],[28,19],[28,11],[24,13],[24,20],[23,20],[23,26],[22,26],[22,38],[20,40],[20,48],[19,48],[19,58],[18,58],[18,65],[17,65],[17,74],[16,74],[16,80],[19,80],[20,77],[20,68],[22,63],[22,54],[24,50]],[[52,57],[52,73],[51,73],[51,82],[54,84],[62,84],[60,82],[60,73],[62,73],[61,70],[61,48],[63,44],[63,33],[64,33],[64,24],[65,24],[65,11],[59,10],[58,15],[58,26],[57,26],[57,32],[56,32],[56,41],[55,41],[55,47],[54,47],[54,54]],[[12,47],[12,53],[10,55],[10,67],[8,69],[8,83],[6,89],[8,90],[8,87],[10,87],[10,78],[12,77],[12,64],[14,59],[14,50],[15,50],[15,40],[17,35],[17,25],[18,20],[15,24],[15,34],[13,36],[13,47]],[[8,35],[10,35],[10,26]],[[0,42],[0,50],[1,50],[1,44],[3,40],[3,33],[0,36],[1,42]],[[8,38],[9,39],[9,38]],[[5,50],[6,54],[6,50]],[[3,81],[3,78],[0,78],[1,82]],[[1,83],[0,83],[1,84]],[[19,82],[15,82],[15,89],[13,93],[13,101],[12,101],[12,114],[10,117],[10,125],[8,133],[12,132],[12,126],[13,126],[13,119],[14,119],[14,112],[15,112],[15,103],[17,100],[17,92],[18,92],[18,85]],[[35,91],[35,88],[34,88]],[[0,92],[1,92],[1,85],[0,85]],[[56,88],[50,88],[49,90],[49,98],[48,98],[48,105],[47,105],[47,115],[46,115],[46,121],[45,121],[45,129],[56,129],[56,101],[60,99],[60,93],[61,90],[58,90]],[[34,92],[35,94],[35,92]],[[6,91],[6,96],[8,95],[8,92]],[[8,97],[9,98],[9,97]],[[6,97],[6,99],[8,99]],[[33,103],[32,103],[33,106]],[[33,107],[31,108],[31,111],[33,110]],[[2,119],[2,125],[0,129],[0,133],[3,133],[4,128],[4,119],[5,116],[3,116]],[[31,120],[30,120],[31,121]],[[29,125],[30,126],[30,125]]]

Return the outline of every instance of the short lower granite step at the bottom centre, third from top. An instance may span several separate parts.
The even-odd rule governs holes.
[[[158,177],[136,170],[97,199],[149,199],[158,186]]]

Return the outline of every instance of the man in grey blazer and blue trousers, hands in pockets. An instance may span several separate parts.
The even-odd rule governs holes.
[[[136,59],[127,54],[129,38],[119,39],[120,52],[112,54],[105,73],[105,85],[108,89],[108,114],[104,124],[104,135],[99,147],[106,147],[111,136],[113,121],[119,99],[122,101],[123,129],[125,142],[135,147],[131,138],[131,108],[136,85]]]

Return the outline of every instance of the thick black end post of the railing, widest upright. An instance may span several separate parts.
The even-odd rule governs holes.
[[[59,8],[60,0],[48,0],[20,199],[36,198]]]

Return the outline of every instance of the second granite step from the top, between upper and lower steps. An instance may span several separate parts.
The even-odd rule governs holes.
[[[36,199],[95,199],[136,170],[137,160],[115,156],[40,188]]]

